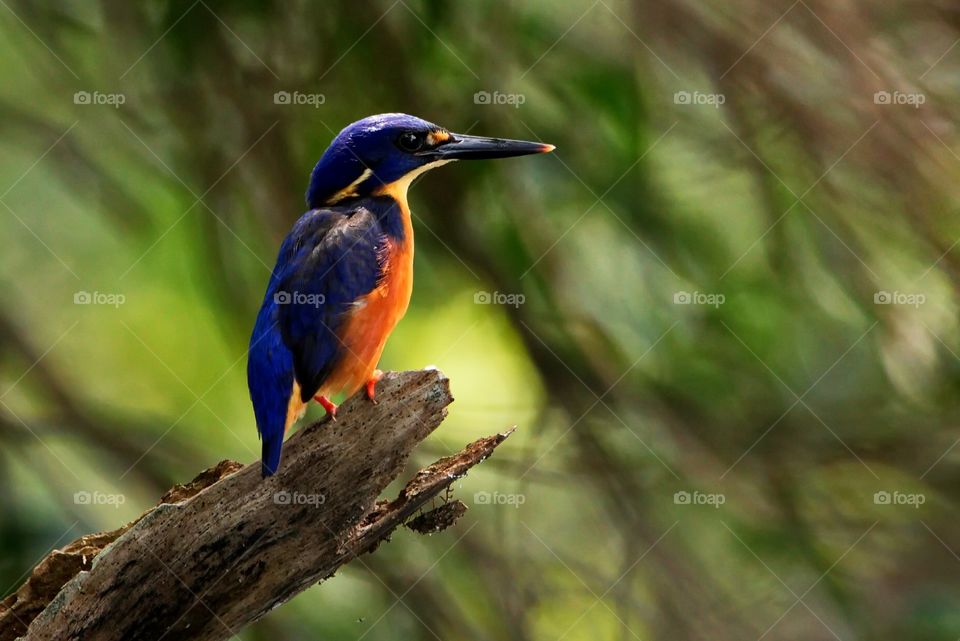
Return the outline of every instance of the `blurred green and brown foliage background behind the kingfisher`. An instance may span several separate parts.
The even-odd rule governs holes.
[[[956,639],[958,27],[941,1],[7,0],[3,593],[257,457],[246,341],[309,171],[404,111],[557,145],[412,190],[383,361],[457,397],[412,464],[520,429],[456,528],[240,638]]]

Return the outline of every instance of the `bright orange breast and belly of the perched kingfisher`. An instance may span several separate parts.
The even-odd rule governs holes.
[[[403,213],[404,238],[388,241],[384,277],[357,301],[340,332],[343,360],[331,372],[319,394],[353,394],[373,375],[387,338],[403,318],[413,293],[413,226],[406,199],[398,199]]]

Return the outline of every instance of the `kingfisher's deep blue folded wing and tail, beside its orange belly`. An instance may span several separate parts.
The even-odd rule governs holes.
[[[336,367],[337,333],[353,304],[377,286],[384,243],[378,216],[356,205],[307,212],[281,245],[247,363],[264,476],[280,464],[294,377],[307,401]]]

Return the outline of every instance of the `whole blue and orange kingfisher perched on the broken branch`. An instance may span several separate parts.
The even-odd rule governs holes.
[[[280,245],[250,337],[247,384],[264,477],[311,400],[336,420],[338,395],[376,402],[387,338],[413,291],[407,189],[454,160],[549,152],[553,145],[455,134],[407,114],[347,126],[323,153],[305,213]]]

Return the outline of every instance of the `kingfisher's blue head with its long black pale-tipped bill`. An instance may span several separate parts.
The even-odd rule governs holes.
[[[410,182],[453,160],[508,158],[551,151],[553,145],[452,134],[406,114],[358,120],[337,134],[310,175],[307,206],[394,191],[405,196]]]

